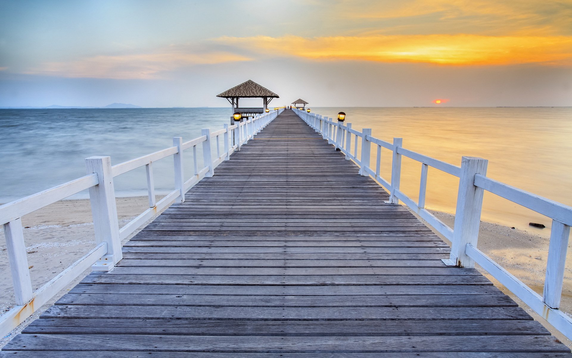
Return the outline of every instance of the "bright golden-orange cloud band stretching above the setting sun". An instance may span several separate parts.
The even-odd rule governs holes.
[[[312,60],[426,62],[445,65],[572,65],[572,37],[431,34],[305,38],[221,37],[217,42],[260,55]]]

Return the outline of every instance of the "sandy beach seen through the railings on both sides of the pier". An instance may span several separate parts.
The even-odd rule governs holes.
[[[136,217],[146,207],[148,207],[146,197],[117,198],[120,226]],[[453,226],[454,215],[439,211],[432,211],[432,213],[447,225]],[[22,219],[22,223],[25,226],[27,258],[34,289],[45,284],[94,245],[89,200],[62,200],[26,215]],[[535,234],[534,230],[536,229],[527,232],[495,223],[482,222],[479,249],[520,278],[525,284],[542,294],[549,240]],[[0,270],[9,273],[10,268],[7,264],[6,243],[3,234],[1,237]],[[446,239],[444,241],[447,242]],[[76,282],[88,273],[86,271]],[[490,276],[486,276],[491,279]],[[572,312],[571,278],[572,271],[567,268],[562,299],[562,309],[565,312]],[[10,274],[0,276],[0,285],[4,288],[0,292],[0,309],[5,312],[14,302]],[[49,304],[45,305],[44,309],[65,292],[66,290],[60,292]],[[505,293],[509,294],[509,292]],[[513,295],[511,297],[514,298]],[[27,321],[33,320],[39,312]],[[527,312],[533,314],[530,309],[527,309]],[[537,315],[534,316],[538,318]],[[0,346],[5,343],[6,339],[3,341],[0,341]]]

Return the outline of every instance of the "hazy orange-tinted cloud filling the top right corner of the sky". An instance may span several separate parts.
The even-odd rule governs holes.
[[[474,33],[536,36],[572,34],[570,0],[344,0],[334,14],[371,24],[387,33],[396,30],[428,33]],[[395,23],[399,21],[399,23]]]

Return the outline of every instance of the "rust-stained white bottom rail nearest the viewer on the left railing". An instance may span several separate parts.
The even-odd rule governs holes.
[[[8,335],[10,331],[25,321],[26,318],[30,317],[82,272],[89,269],[89,266],[92,266],[93,263],[105,255],[107,251],[107,243],[100,243],[93,250],[90,250],[89,253],[84,255],[84,257],[78,259],[78,261],[74,262],[71,266],[67,267],[67,269],[63,270],[63,272],[36,290],[31,301],[25,302],[25,304],[22,305],[16,305],[8,312],[3,313],[2,316],[0,316],[0,337]]]

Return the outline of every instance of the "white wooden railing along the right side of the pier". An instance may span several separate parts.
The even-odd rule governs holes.
[[[316,132],[319,132],[324,139],[335,145],[336,150],[345,154],[346,159],[351,159],[358,164],[360,175],[371,175],[379,182],[390,193],[390,203],[398,204],[401,200],[436,231],[451,241],[450,258],[443,259],[446,265],[474,267],[475,262],[478,263],[558,331],[572,339],[572,319],[558,309],[562,296],[570,226],[572,226],[572,207],[487,178],[488,161],[486,159],[463,156],[461,166],[458,167],[403,148],[401,138],[394,138],[393,143],[388,143],[372,137],[371,129],[366,128],[359,132],[351,128],[351,123],[344,124],[315,113],[293,111]],[[354,140],[353,145],[352,140]],[[359,158],[358,140],[361,142]],[[375,170],[370,167],[372,144],[377,146]],[[392,152],[390,181],[380,175],[382,148]],[[421,164],[418,202],[415,202],[399,189],[402,156],[414,159]],[[459,178],[454,230],[425,208],[428,167],[436,168]],[[542,296],[477,249],[480,214],[485,190],[552,219]]]

